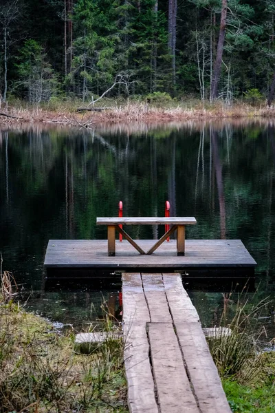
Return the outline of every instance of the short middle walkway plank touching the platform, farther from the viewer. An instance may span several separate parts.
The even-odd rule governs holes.
[[[164,291],[162,274],[142,273],[144,295],[152,323],[172,323]]]

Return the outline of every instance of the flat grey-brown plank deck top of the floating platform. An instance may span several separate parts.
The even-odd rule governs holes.
[[[153,240],[138,240],[146,251]],[[50,240],[45,255],[49,268],[254,268],[256,262],[240,240],[186,240],[184,257],[176,242],[164,242],[152,255],[140,255],[127,241],[115,242],[115,257],[107,255],[107,240]],[[253,270],[252,270],[253,271]],[[251,275],[251,274],[250,274]]]

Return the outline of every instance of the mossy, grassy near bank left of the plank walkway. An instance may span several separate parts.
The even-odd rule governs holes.
[[[74,332],[0,304],[0,412],[128,412],[122,341],[75,354]]]

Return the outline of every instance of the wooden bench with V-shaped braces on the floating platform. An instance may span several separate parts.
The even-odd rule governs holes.
[[[128,218],[97,218],[97,225],[108,226],[108,255],[115,256],[115,230],[123,235],[127,241],[129,241],[133,247],[142,255],[152,254],[159,245],[162,244],[173,232],[177,230],[177,255],[185,254],[185,226],[190,224],[197,224],[194,217],[128,217]],[[160,225],[168,224],[172,225],[171,228],[149,249],[144,252],[137,243],[132,240],[122,228],[122,225]]]

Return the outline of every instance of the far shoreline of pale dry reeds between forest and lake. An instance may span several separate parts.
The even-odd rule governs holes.
[[[7,116],[5,116],[5,114]],[[44,123],[46,125],[69,125],[74,127],[94,127],[102,124],[114,123],[169,123],[184,122],[186,120],[233,120],[274,118],[275,108],[253,107],[247,104],[236,104],[225,107],[220,103],[211,107],[194,107],[188,109],[184,105],[176,107],[157,107],[147,103],[127,103],[103,109],[101,112],[76,112],[76,109],[62,108],[47,109],[10,107],[0,109],[0,126],[19,125],[25,123]]]

